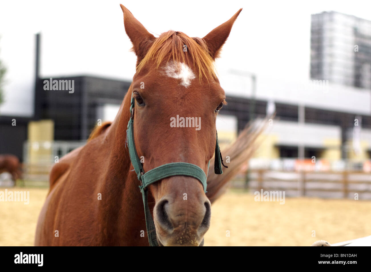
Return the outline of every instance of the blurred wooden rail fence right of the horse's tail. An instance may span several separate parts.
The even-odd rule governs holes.
[[[234,188],[249,190],[282,190],[290,196],[319,196],[324,198],[371,199],[371,173],[343,172],[289,172],[249,170],[232,181]]]

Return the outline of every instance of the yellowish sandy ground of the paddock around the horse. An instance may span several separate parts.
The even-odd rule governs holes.
[[[4,189],[0,189],[3,190]],[[0,202],[0,246],[32,246],[47,189],[30,191],[30,202]],[[310,246],[371,235],[371,201],[286,198],[256,202],[254,195],[229,191],[211,207],[205,246]],[[315,235],[315,237],[312,237]]]

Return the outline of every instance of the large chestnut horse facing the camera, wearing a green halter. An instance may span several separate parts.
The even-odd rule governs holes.
[[[216,142],[216,115],[225,103],[214,59],[241,10],[200,39],[178,31],[156,38],[128,9],[121,8],[125,31],[138,57],[133,82],[114,122],[93,132],[85,146],[53,167],[35,245],[149,245],[139,181],[125,140],[131,96],[135,99],[135,147],[144,171],[187,162],[208,173]],[[201,122],[198,127],[174,127],[171,118],[177,116]],[[244,143],[251,144],[255,138]],[[242,149],[233,152],[240,165],[247,153],[239,160]],[[210,170],[207,195],[201,183],[188,176],[171,176],[149,186],[148,203],[160,245],[198,246],[203,242],[210,225],[209,199],[220,194],[230,178],[228,171],[236,167],[231,169],[223,169],[224,179]]]

